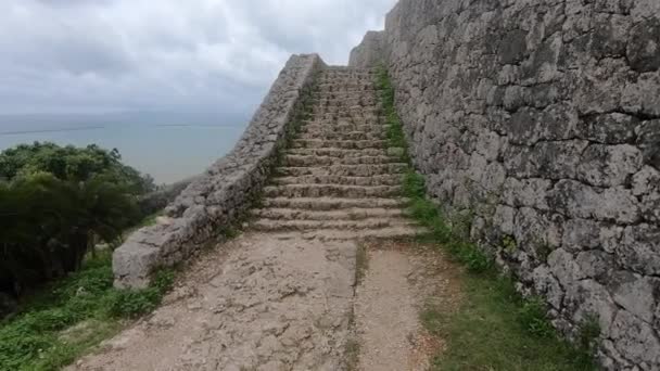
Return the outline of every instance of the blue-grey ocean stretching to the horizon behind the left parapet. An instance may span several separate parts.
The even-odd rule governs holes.
[[[249,115],[219,113],[113,113],[0,115],[0,151],[21,143],[96,143],[117,149],[125,164],[170,183],[198,175],[227,154]]]

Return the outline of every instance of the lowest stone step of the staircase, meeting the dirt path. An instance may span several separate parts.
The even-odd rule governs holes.
[[[366,230],[321,229],[303,232],[279,232],[272,235],[280,240],[305,239],[319,241],[350,241],[350,240],[397,240],[414,239],[427,230],[417,226],[397,226]]]

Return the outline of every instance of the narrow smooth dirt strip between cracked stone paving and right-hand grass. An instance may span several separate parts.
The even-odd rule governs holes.
[[[456,268],[422,246],[372,242],[367,270],[356,289],[355,325],[360,344],[357,370],[428,370],[442,350],[420,315],[427,305],[454,310],[459,300]]]

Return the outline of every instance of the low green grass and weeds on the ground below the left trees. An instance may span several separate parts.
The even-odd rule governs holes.
[[[144,290],[113,289],[111,252],[26,298],[0,322],[0,370],[59,370],[122,329],[124,318],[153,310],[173,284],[163,270]]]

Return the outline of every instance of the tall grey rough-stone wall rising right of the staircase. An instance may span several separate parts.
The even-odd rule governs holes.
[[[660,1],[401,0],[384,39],[429,193],[605,369],[660,370]]]

